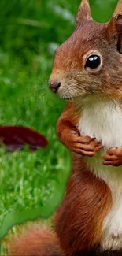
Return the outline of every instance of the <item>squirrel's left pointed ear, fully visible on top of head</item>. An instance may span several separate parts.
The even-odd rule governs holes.
[[[76,28],[88,20],[92,20],[90,6],[88,0],[82,0],[76,15]]]

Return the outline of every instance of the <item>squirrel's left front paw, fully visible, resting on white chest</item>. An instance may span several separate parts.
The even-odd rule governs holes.
[[[68,138],[68,149],[83,156],[93,157],[102,149],[102,144],[89,136],[79,136],[75,131]]]

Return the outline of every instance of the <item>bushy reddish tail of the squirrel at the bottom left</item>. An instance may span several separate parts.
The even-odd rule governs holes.
[[[23,228],[7,247],[9,256],[63,256],[56,234],[42,225]]]

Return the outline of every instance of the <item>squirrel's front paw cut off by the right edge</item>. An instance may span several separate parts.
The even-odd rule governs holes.
[[[103,165],[122,165],[122,147],[112,147],[103,156]]]

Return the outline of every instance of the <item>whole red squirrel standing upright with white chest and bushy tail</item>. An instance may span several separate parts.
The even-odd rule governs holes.
[[[72,151],[72,173],[54,232],[22,232],[9,255],[122,254],[121,9],[120,0],[111,20],[99,24],[83,0],[75,31],[56,50],[49,86],[66,100],[57,135]]]

